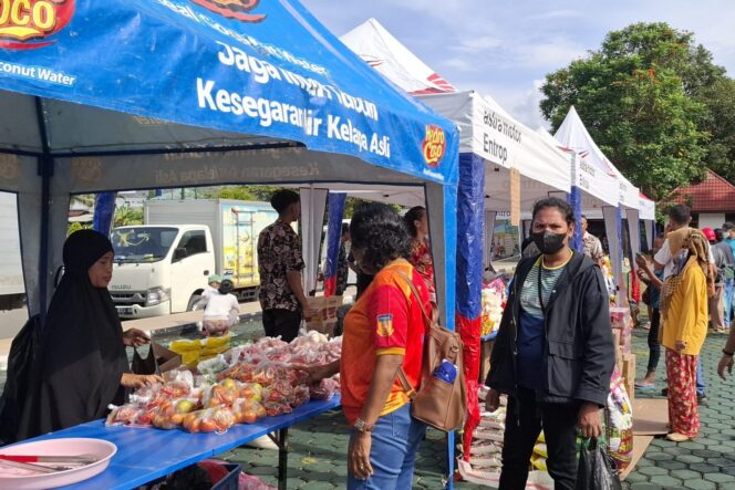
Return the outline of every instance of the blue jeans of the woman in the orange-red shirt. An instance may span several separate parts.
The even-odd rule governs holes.
[[[416,453],[425,434],[426,425],[411,417],[411,404],[379,418],[370,447],[373,476],[358,480],[348,473],[348,490],[411,489]]]

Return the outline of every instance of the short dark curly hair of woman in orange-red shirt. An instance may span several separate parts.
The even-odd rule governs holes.
[[[411,236],[397,212],[380,202],[360,206],[350,222],[352,248],[364,251],[362,263],[380,271],[411,254]]]

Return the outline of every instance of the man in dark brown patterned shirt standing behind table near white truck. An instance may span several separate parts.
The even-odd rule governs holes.
[[[304,268],[301,243],[291,228],[301,216],[301,204],[294,191],[279,190],[270,199],[270,205],[278,212],[278,219],[258,237],[258,299],[266,335],[280,335],[283,341],[291,342],[299,334],[301,315],[310,317],[313,314],[301,282]]]

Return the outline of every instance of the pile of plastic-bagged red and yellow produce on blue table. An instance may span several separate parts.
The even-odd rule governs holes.
[[[267,337],[230,348],[196,368],[165,373],[164,384],[141,388],[127,404],[111,406],[107,425],[224,432],[234,424],[288,414],[309,399],[329,399],[339,390],[338,379],[309,387],[307,373],[292,364],[335,361],[341,341],[310,332],[290,344]]]

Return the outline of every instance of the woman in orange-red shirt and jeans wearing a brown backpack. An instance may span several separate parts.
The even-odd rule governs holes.
[[[396,376],[402,367],[413,386],[421,383],[426,329],[421,309],[429,307],[428,288],[406,260],[411,237],[390,207],[361,207],[350,237],[361,269],[375,278],[344,317],[342,358],[308,371],[315,382],[339,369],[342,409],[353,427],[348,489],[407,489],[426,425],[411,417]]]

